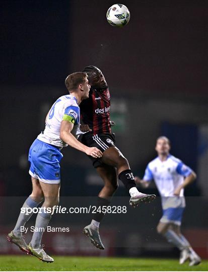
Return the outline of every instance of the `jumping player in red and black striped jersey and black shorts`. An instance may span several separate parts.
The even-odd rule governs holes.
[[[114,145],[115,138],[111,133],[110,121],[110,93],[102,72],[95,66],[87,66],[83,72],[88,74],[91,89],[89,99],[80,104],[82,121],[90,128],[90,131],[83,135],[82,142],[103,152],[100,159],[92,159],[94,167],[104,181],[97,206],[102,209],[103,206],[109,205],[118,187],[117,177],[130,193],[131,206],[136,207],[142,201],[155,199],[155,195],[144,194],[136,189],[128,161]],[[91,224],[84,228],[84,233],[100,249],[104,249],[99,235],[99,224],[103,217],[104,213],[94,214]]]

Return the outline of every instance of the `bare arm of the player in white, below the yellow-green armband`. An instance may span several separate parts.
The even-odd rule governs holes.
[[[80,150],[86,153],[87,155],[92,156],[93,158],[101,158],[102,152],[99,149],[95,147],[92,148],[87,147],[80,143],[74,137],[74,135],[71,133],[73,127],[74,127],[73,123],[66,120],[62,120],[60,125],[60,139],[69,146],[76,148],[77,150]]]

